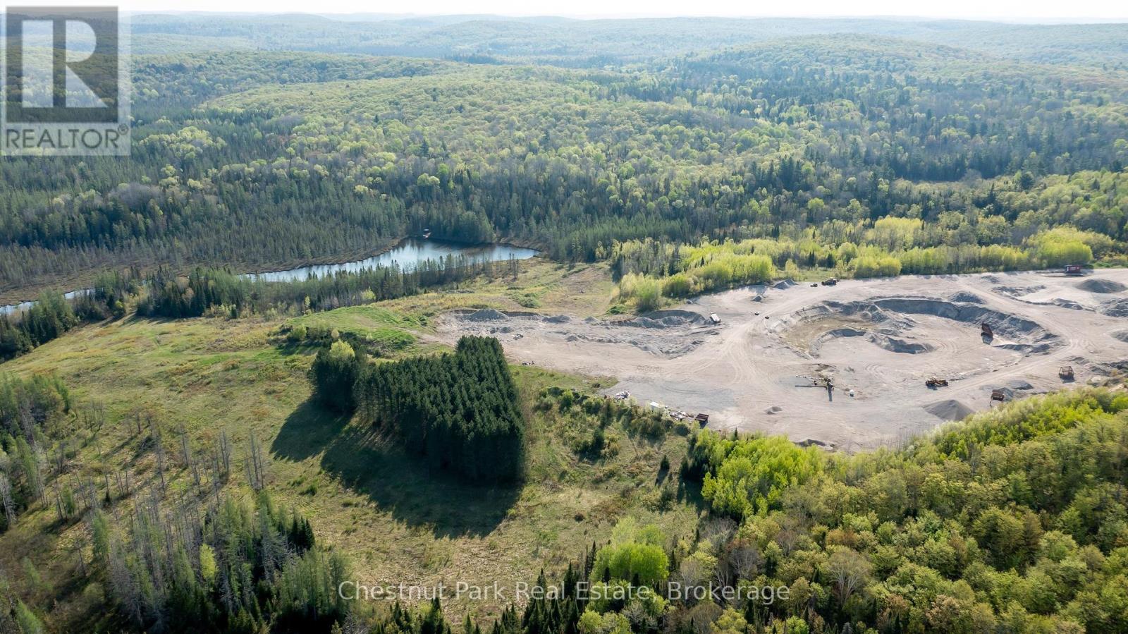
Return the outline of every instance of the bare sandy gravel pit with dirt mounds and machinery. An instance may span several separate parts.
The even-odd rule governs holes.
[[[496,336],[519,362],[616,377],[608,391],[708,413],[711,428],[853,451],[985,410],[993,389],[1020,398],[1128,368],[1128,270],[779,282],[644,317],[486,309],[448,314],[438,329],[447,342]],[[950,384],[929,388],[929,377]],[[826,378],[831,394],[814,385]]]

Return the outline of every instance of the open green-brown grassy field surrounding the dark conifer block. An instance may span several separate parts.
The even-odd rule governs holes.
[[[68,430],[72,478],[104,478],[129,469],[134,491],[157,477],[148,425],[152,421],[170,456],[169,499],[199,495],[179,458],[180,433],[194,451],[206,452],[226,431],[240,467],[229,490],[246,495],[243,456],[254,434],[268,449],[267,490],[311,521],[319,540],[353,556],[359,580],[369,583],[512,585],[532,581],[543,565],[563,566],[593,540],[609,536],[617,519],[634,516],[681,537],[693,526],[693,504],[656,510],[662,455],[678,464],[685,439],[646,441],[622,433],[617,456],[594,461],[576,457],[558,417],[527,406],[529,475],[521,485],[472,486],[404,455],[373,430],[336,417],[309,399],[306,371],[316,346],[294,344],[287,326],[321,326],[360,338],[394,342],[390,355],[439,350],[430,323],[444,310],[497,307],[579,314],[607,309],[611,283],[600,268],[570,270],[534,263],[518,281],[470,285],[380,305],[343,308],[296,318],[125,319],[86,326],[0,371],[17,376],[58,373],[71,388],[77,410]],[[531,403],[548,386],[591,393],[608,385],[514,367]],[[104,421],[103,421],[104,419]],[[91,422],[92,421],[92,422]],[[58,478],[56,478],[58,479]],[[55,486],[49,483],[49,487]],[[131,500],[116,500],[115,512]],[[86,527],[60,522],[54,507],[33,508],[0,536],[0,567],[36,605],[50,605],[53,629],[91,623],[103,589],[80,572],[89,560]],[[42,579],[24,572],[30,557]],[[49,599],[49,600],[43,600]],[[455,615],[496,614],[502,601],[450,606]],[[109,617],[106,617],[109,618]],[[112,622],[106,622],[111,624]]]

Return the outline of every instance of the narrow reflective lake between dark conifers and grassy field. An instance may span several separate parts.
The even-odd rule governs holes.
[[[343,264],[315,264],[312,266],[299,266],[287,271],[268,271],[265,273],[246,273],[244,278],[252,278],[263,282],[294,282],[303,281],[310,275],[325,278],[341,271],[356,272],[377,266],[391,266],[396,264],[400,271],[413,271],[420,263],[429,259],[440,261],[447,256],[465,257],[468,263],[481,262],[505,262],[509,259],[529,259],[537,255],[538,250],[512,245],[465,245],[461,243],[448,243],[435,239],[407,238],[389,250],[364,259],[345,262]],[[80,293],[89,292],[90,289],[70,291],[67,298],[71,299]],[[11,314],[17,310],[27,310],[35,302],[24,301],[0,306],[0,315]]]

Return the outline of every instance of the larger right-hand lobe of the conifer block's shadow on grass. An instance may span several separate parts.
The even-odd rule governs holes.
[[[435,537],[481,537],[505,519],[520,483],[472,483],[433,468],[368,425],[350,425],[325,450],[321,467],[396,519]]]

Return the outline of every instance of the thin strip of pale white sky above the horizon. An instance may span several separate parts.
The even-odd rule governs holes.
[[[1128,21],[1128,3],[1114,0],[805,0],[756,2],[735,0],[11,0],[14,5],[118,5],[133,11],[245,11],[316,14],[414,14],[599,17],[841,17],[905,16],[1001,21]]]

